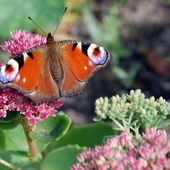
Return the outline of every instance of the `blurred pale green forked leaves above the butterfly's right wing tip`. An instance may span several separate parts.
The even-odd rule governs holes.
[[[122,21],[118,7],[110,8],[107,14],[102,17],[102,22],[97,20],[89,6],[84,6],[82,11],[83,20],[90,37],[94,42],[102,44],[109,49],[112,56],[114,56],[112,57],[114,65],[118,63],[120,58],[130,56],[131,51],[124,46],[119,33]]]

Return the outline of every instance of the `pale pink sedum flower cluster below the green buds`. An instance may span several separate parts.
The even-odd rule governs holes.
[[[170,139],[166,131],[149,127],[139,142],[122,132],[103,146],[86,149],[71,170],[169,170]]]

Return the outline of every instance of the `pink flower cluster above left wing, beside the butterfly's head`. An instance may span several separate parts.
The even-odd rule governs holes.
[[[11,54],[18,54],[37,45],[45,45],[46,42],[47,40],[44,36],[32,34],[26,30],[16,30],[11,32],[11,39],[5,41],[4,44],[1,45],[1,48]]]

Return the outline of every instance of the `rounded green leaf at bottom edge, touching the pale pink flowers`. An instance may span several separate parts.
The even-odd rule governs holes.
[[[68,170],[76,163],[76,156],[83,150],[79,146],[65,146],[50,152],[44,159],[41,170]]]

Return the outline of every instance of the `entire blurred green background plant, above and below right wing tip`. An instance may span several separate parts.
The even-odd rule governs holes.
[[[126,88],[132,88],[140,64],[135,63],[129,71],[120,66],[120,60],[131,54],[131,51],[124,46],[119,33],[122,25],[119,9],[122,4],[123,2],[117,2],[113,7],[111,6],[107,14],[102,17],[102,22],[96,19],[90,7],[86,5],[83,8],[83,18],[92,40],[106,46],[112,54],[111,64],[114,74]]]

